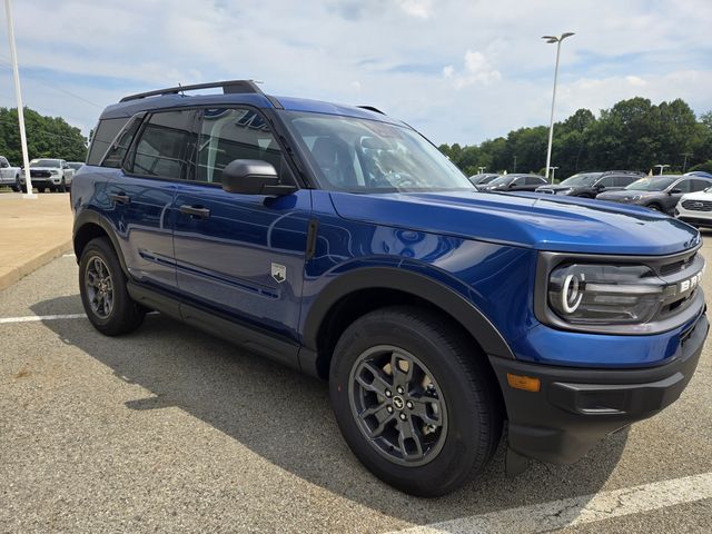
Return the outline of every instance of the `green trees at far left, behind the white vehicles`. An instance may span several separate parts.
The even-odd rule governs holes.
[[[46,117],[24,108],[27,151],[30,159],[60,158],[83,161],[87,157],[87,138],[81,130],[61,117]],[[22,148],[17,108],[0,107],[0,155],[14,166],[22,166]]]

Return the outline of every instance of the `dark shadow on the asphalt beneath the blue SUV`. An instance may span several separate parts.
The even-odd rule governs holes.
[[[31,308],[70,309],[79,296]],[[435,523],[467,515],[595,494],[616,466],[627,439],[609,436],[573,466],[533,462],[504,474],[501,445],[483,475],[452,495],[423,500],[380,483],[353,456],[334,421],[326,383],[246,353],[160,314],[137,332],[105,337],[86,320],[51,320],[46,327],[113,369],[117,378],[151,392],[126,403],[134,411],[179,407],[229,435],[273,464],[388,516]]]

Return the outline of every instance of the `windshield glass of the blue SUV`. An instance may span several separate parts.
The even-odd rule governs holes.
[[[336,115],[283,113],[325,189],[476,190],[437,148],[408,128]]]

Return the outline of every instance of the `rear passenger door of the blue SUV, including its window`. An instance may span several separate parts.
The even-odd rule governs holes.
[[[171,206],[176,184],[187,176],[195,151],[196,111],[149,115],[137,130],[123,165],[108,184],[108,211],[131,276],[159,288],[176,289]],[[128,127],[127,127],[128,128]],[[120,140],[121,141],[121,140]],[[105,166],[119,165],[126,142],[118,142]]]

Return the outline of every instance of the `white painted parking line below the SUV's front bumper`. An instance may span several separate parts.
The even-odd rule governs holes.
[[[712,473],[414,526],[398,534],[536,533],[712,498]]]

